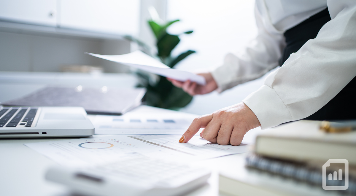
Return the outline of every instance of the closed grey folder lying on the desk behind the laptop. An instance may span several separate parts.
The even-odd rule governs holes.
[[[27,96],[2,102],[4,106],[79,106],[88,114],[122,115],[141,104],[145,88],[45,87]]]

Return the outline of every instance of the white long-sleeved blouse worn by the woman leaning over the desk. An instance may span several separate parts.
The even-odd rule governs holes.
[[[331,21],[270,73],[244,102],[262,129],[306,118],[356,76],[356,1],[327,0]],[[326,8],[325,1],[256,0],[258,35],[240,54],[227,54],[211,74],[218,91],[261,77],[278,66],[283,33]]]

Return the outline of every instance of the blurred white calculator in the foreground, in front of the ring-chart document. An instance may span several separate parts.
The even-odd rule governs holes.
[[[136,154],[96,167],[52,167],[46,179],[80,195],[183,195],[210,177],[205,168]]]

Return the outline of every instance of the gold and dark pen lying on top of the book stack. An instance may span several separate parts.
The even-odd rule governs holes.
[[[320,129],[328,133],[349,132],[356,129],[356,120],[322,121]]]

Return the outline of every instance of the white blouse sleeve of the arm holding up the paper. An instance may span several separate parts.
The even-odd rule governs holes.
[[[255,80],[278,66],[285,47],[283,32],[276,30],[269,20],[262,17],[267,13],[261,11],[263,12],[256,4],[257,37],[240,54],[227,54],[224,64],[211,71],[218,85],[218,92]]]

